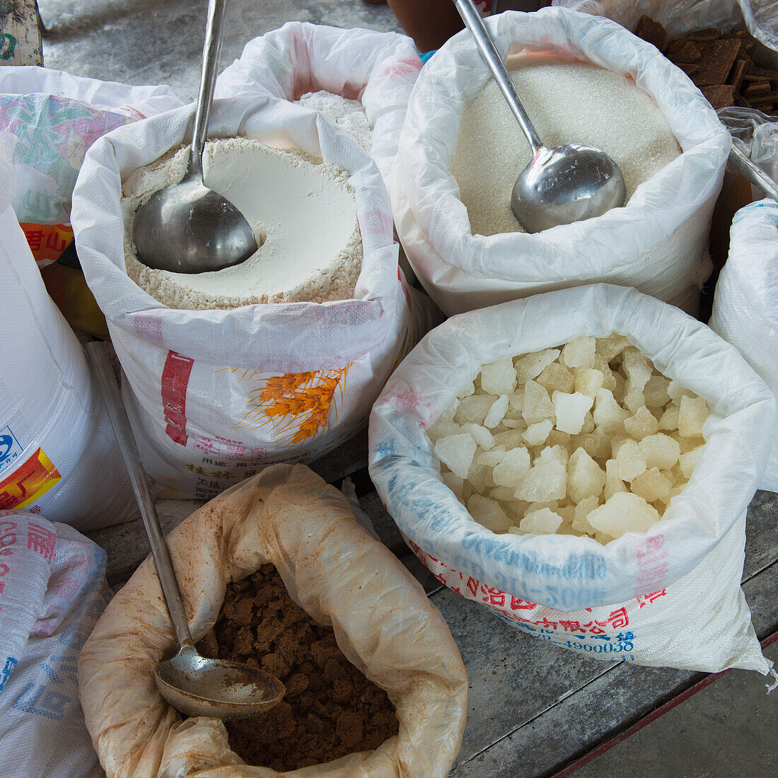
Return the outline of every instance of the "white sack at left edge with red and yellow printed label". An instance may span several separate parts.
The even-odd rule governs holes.
[[[9,205],[8,141],[0,135],[0,510],[106,527],[134,518],[135,502],[86,356]]]

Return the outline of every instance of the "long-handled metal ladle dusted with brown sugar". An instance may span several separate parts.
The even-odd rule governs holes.
[[[286,688],[278,678],[240,662],[206,659],[195,649],[170,553],[162,528],[159,527],[159,518],[135,445],[135,436],[124,411],[105,347],[100,342],[90,342],[86,344],[86,352],[95,370],[100,394],[103,395],[110,424],[116,433],[121,457],[141,509],[159,583],[180,646],[172,659],[161,661],[154,668],[159,693],[170,705],[187,716],[242,719],[269,710],[286,693]]]

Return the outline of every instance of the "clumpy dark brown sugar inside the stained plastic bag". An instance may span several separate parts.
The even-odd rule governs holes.
[[[260,716],[226,721],[230,748],[250,765],[279,772],[371,751],[398,733],[387,693],[344,656],[331,627],[300,608],[272,565],[229,584],[205,656],[262,668],[286,685]]]

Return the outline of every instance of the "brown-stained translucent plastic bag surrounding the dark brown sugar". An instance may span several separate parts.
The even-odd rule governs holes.
[[[167,544],[173,567],[186,571],[179,584],[195,640],[214,626],[227,585],[269,562],[293,600],[331,626],[349,662],[388,693],[398,734],[375,750],[283,775],[447,776],[467,713],[468,677],[457,645],[422,587],[357,524],[335,487],[301,465],[276,465],[193,513]],[[221,720],[182,720],[159,695],[152,668],[175,647],[147,559],[97,622],[79,659],[86,726],[108,778],[279,775],[245,764]]]

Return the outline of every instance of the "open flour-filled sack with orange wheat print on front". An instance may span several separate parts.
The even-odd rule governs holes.
[[[193,111],[97,141],[73,226],[145,470],[165,496],[206,499],[356,433],[426,308],[398,269],[373,160],[326,118],[267,96],[216,100],[203,155],[206,186],[247,217],[256,254],[195,275],[142,265],[135,210],[183,175]]]

